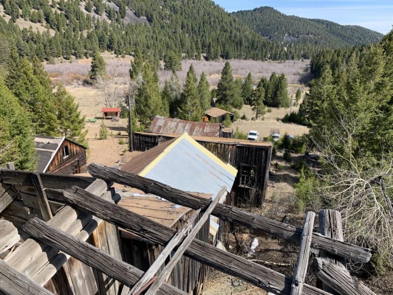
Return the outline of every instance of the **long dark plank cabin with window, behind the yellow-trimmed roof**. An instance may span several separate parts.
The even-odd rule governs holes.
[[[134,132],[134,151],[147,151],[176,137],[179,135]],[[191,137],[221,161],[237,169],[235,183],[227,197],[228,204],[240,207],[262,205],[269,179],[272,143],[223,137]]]

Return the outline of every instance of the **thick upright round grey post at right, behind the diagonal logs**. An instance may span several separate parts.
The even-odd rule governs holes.
[[[344,240],[342,234],[341,214],[339,211],[331,210],[331,209],[321,210],[319,214],[319,219],[320,219],[319,230],[322,235],[339,241]],[[342,269],[347,269],[347,263],[345,261],[345,258],[326,253],[325,251],[320,251],[320,255],[322,258],[330,259]],[[326,284],[323,284],[323,289],[330,293],[334,292]]]

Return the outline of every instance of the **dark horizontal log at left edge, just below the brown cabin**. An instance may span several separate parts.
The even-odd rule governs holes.
[[[93,177],[59,175],[50,173],[39,174],[45,188],[66,189],[72,185],[86,188],[95,180]],[[3,183],[33,187],[30,172],[0,169],[0,180]]]

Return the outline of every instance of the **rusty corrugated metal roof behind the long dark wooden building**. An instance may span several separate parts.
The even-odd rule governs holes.
[[[220,124],[208,122],[193,122],[162,116],[155,116],[150,131],[157,133],[174,133],[218,137]]]

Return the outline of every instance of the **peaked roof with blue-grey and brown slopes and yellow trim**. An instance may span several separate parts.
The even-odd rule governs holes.
[[[226,164],[187,133],[132,158],[122,170],[185,191],[215,196],[225,185],[232,189],[237,170]]]

